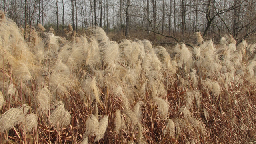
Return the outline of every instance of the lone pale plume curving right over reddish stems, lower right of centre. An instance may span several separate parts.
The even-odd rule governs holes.
[[[158,107],[158,113],[160,114],[160,116],[162,118],[167,118],[168,114],[169,114],[169,105],[168,105],[168,101],[164,100],[162,98],[154,98],[153,99]]]

